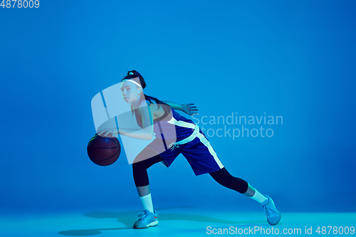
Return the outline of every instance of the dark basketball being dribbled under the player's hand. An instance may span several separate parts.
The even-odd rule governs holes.
[[[108,166],[119,158],[121,146],[116,137],[102,137],[96,134],[90,139],[87,152],[92,162],[100,166]]]

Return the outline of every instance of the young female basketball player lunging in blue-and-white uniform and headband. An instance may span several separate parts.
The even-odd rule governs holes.
[[[99,135],[105,133],[105,136],[109,133],[120,133],[149,140],[153,134],[156,135],[156,138],[135,157],[132,164],[135,185],[144,209],[133,228],[147,228],[158,224],[157,212],[152,205],[147,168],[158,162],[169,167],[181,153],[191,165],[194,174],[209,173],[219,184],[258,201],[263,206],[268,223],[276,225],[281,220],[281,214],[271,197],[260,194],[244,179],[231,176],[216,156],[204,132],[192,120],[175,111],[181,110],[188,115],[194,115],[197,114],[196,107],[193,104],[179,105],[145,95],[143,92],[145,87],[144,78],[136,70],[129,71],[122,79],[122,97],[125,102],[131,104],[132,114],[135,115],[137,124],[142,127],[141,130],[119,127],[118,131],[115,129],[98,132]]]

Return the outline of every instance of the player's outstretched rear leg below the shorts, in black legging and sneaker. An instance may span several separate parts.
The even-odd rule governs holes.
[[[267,221],[271,225],[276,225],[281,220],[281,214],[276,209],[273,200],[269,196],[261,194],[244,179],[233,177],[225,167],[209,174],[222,186],[226,186],[228,189],[233,189],[240,194],[244,194],[258,201],[258,203],[263,206],[265,214],[267,215]]]

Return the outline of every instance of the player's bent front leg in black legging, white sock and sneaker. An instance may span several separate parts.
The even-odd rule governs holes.
[[[145,154],[147,154],[147,152],[145,152]],[[151,167],[152,164],[162,162],[164,159],[157,153],[151,153],[150,156],[152,157],[148,159],[140,159],[140,157],[137,156],[136,159],[140,160],[140,162],[134,162],[132,164],[135,186],[144,209],[144,213],[140,214],[140,219],[134,223],[134,228],[157,226],[158,223],[157,213],[153,209],[147,169]]]

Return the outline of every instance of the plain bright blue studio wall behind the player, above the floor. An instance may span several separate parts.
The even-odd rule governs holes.
[[[222,164],[280,211],[356,211],[355,10],[354,1],[1,6],[1,211],[142,209],[125,152],[110,167],[86,153],[91,99],[133,69],[147,95],[197,105],[194,121]],[[271,137],[233,139],[210,122],[231,114],[283,124],[262,125]],[[260,131],[255,123],[244,128]],[[195,177],[182,155],[148,172],[155,208],[262,211],[209,174]]]

